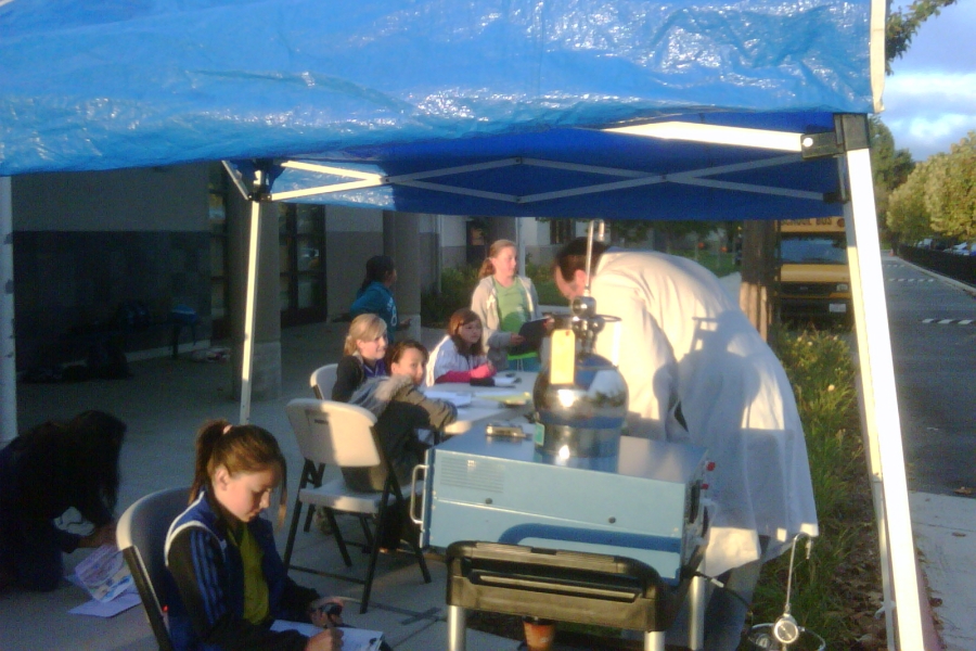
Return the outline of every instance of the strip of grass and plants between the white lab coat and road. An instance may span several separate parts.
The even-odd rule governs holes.
[[[797,549],[792,614],[829,649],[873,649],[884,642],[881,569],[871,488],[860,433],[855,369],[843,336],[784,332],[774,342],[804,422],[820,521],[810,559]],[[783,612],[789,556],[763,566],[754,622]]]

